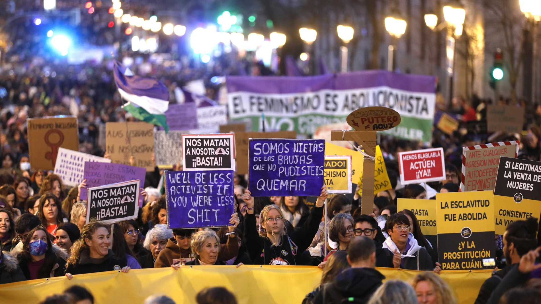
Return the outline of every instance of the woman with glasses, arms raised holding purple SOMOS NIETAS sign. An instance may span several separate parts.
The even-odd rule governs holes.
[[[327,188],[321,194],[300,229],[286,232],[280,207],[267,205],[261,211],[259,229],[255,227],[254,198],[249,190],[242,195],[248,206],[245,217],[246,248],[255,265],[303,265],[300,254],[310,246],[319,222],[323,217],[323,205]],[[259,231],[258,231],[259,230]]]

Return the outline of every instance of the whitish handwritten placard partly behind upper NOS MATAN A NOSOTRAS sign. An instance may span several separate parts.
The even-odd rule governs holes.
[[[182,135],[186,131],[154,132],[154,158],[158,167],[170,167],[182,161]]]

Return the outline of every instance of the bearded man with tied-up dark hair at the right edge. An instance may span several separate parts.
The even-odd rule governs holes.
[[[507,265],[494,272],[490,278],[483,282],[475,304],[486,304],[504,276],[517,266],[520,258],[537,247],[537,228],[537,219],[533,217],[514,221],[507,225],[503,237],[504,256]]]

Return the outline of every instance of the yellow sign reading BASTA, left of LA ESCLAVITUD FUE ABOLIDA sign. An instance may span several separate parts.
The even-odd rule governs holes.
[[[397,199],[397,210],[404,209],[411,210],[415,214],[424,235],[438,234],[436,231],[436,200]]]

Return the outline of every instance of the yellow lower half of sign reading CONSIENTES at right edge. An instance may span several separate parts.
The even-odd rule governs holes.
[[[526,220],[530,217],[539,218],[541,201],[522,199],[520,203],[512,197],[494,195],[494,232],[504,234],[507,225],[516,220]]]

